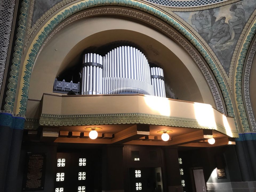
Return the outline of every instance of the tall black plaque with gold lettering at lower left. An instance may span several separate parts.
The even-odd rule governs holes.
[[[45,185],[45,153],[27,153],[22,191],[39,191]]]

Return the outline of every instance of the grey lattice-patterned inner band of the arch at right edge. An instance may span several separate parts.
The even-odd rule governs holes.
[[[249,84],[250,84],[251,66],[253,64],[253,58],[254,58],[255,52],[256,52],[256,39],[254,39],[253,45],[251,46],[250,52],[248,54],[248,58],[245,65],[245,75],[243,77],[243,94],[245,97],[245,105],[246,105],[247,114],[249,116],[248,120],[250,120],[251,128],[253,131],[256,131],[256,122],[253,114],[253,109],[251,106]]]

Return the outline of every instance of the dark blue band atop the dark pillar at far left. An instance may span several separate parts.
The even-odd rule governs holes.
[[[24,129],[25,118],[13,117],[10,113],[0,113],[0,126],[8,126],[11,129]]]

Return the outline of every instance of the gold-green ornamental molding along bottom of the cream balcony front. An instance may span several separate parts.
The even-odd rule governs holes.
[[[171,127],[186,127],[195,129],[212,129],[227,134],[225,127],[216,124],[215,127],[202,126],[197,119],[152,115],[145,113],[116,114],[85,114],[85,115],[54,115],[41,114],[39,126],[88,126],[117,124],[148,124]],[[26,129],[26,127],[25,127]],[[239,137],[238,131],[231,130],[232,137]]]

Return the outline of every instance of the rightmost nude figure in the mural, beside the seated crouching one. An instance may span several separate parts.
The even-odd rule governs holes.
[[[241,5],[241,4],[239,4]],[[241,33],[243,26],[246,23],[245,11],[242,8],[237,8],[237,5],[231,5],[230,11],[235,12],[236,19],[230,19],[229,25],[235,30],[236,33]]]

